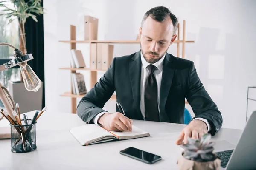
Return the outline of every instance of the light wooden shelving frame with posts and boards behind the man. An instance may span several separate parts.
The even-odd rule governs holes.
[[[89,23],[89,35],[92,35],[93,32],[93,25],[92,23]],[[175,40],[173,43],[177,43],[177,57],[180,57],[180,48],[182,44],[182,58],[185,57],[185,44],[186,43],[193,43],[194,41],[186,41],[186,21],[183,20],[183,40],[180,40],[180,23],[178,23],[177,28],[177,40]],[[77,41],[76,40],[76,26],[70,25],[70,40],[63,41],[60,40],[59,42],[63,43],[69,43],[70,49],[76,49],[76,44],[78,43],[86,43],[89,44],[89,50],[91,49],[92,43],[108,43],[108,44],[139,44],[139,40],[92,40],[91,37],[89,37],[89,40],[85,41]],[[90,50],[91,55],[91,50]],[[91,63],[91,62],[90,62]],[[97,82],[97,71],[106,71],[106,70],[98,70],[98,69],[90,69],[90,68],[71,68],[71,67],[65,67],[65,68],[59,68],[61,70],[70,70],[70,74],[76,73],[76,71],[90,71],[90,89],[93,88],[93,86]],[[71,113],[76,113],[76,98],[82,98],[84,95],[76,95],[72,94],[72,83],[71,83],[71,89],[70,92],[64,92],[64,94],[61,94],[60,96],[64,97],[70,97],[71,98]],[[116,95],[113,94],[110,98],[110,100],[116,100]],[[185,103],[188,103],[185,101]]]

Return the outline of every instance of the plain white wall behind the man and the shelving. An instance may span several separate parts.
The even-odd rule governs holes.
[[[179,20],[186,20],[186,59],[195,62],[198,75],[223,116],[223,127],[245,125],[247,86],[256,85],[255,26],[253,0],[44,0],[44,54],[46,105],[53,112],[70,112],[70,24],[76,39],[84,37],[84,15],[99,18],[98,40],[135,40],[143,14],[155,6],[166,6]],[[89,66],[88,45],[79,44]],[[169,53],[177,54],[177,46]],[[115,45],[114,57],[132,54],[140,45]],[[89,74],[83,71],[89,87]],[[98,74],[99,78],[104,72]],[[78,99],[79,101],[79,99]],[[192,112],[192,109],[189,111]],[[114,112],[115,102],[104,109]]]

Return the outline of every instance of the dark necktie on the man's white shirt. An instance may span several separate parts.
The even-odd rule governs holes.
[[[147,68],[150,74],[145,82],[145,119],[159,122],[157,80],[153,74],[156,66],[150,64]]]

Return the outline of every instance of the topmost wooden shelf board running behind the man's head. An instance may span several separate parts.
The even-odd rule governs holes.
[[[86,41],[77,41],[77,40],[69,40],[69,41],[59,41],[64,43],[108,43],[108,44],[139,44],[140,41],[137,40],[86,40]],[[173,43],[182,43],[183,40],[175,40]],[[189,43],[193,43],[195,41],[185,41]]]

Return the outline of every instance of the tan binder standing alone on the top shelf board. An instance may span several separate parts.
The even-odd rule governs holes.
[[[91,40],[98,40],[98,22],[99,19],[91,16],[84,16],[84,40],[89,40],[91,36]],[[93,30],[91,30],[92,35],[90,35],[90,26],[89,23],[93,24]]]

